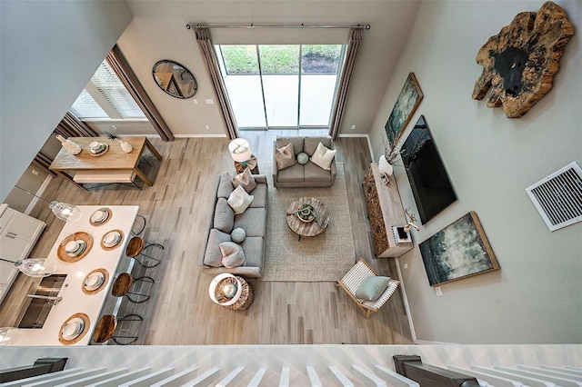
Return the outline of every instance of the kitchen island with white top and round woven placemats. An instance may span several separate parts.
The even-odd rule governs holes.
[[[133,262],[125,257],[125,246],[132,237],[131,227],[139,210],[137,205],[78,205],[82,213],[80,220],[66,222],[56,238],[55,244],[46,257],[56,263],[53,275],[66,275],[57,294],[61,300],[48,312],[42,328],[13,328],[7,332],[4,343],[8,345],[87,345],[102,313],[115,274],[130,270]],[[109,215],[103,223],[91,222],[91,215],[98,209],[106,208]],[[117,230],[122,234],[115,247],[102,243],[106,233]],[[70,257],[64,250],[64,241],[75,235],[90,235],[91,243],[86,243],[84,253]],[[80,257],[80,258],[79,258]],[[106,273],[105,283],[98,290],[87,291],[87,274],[100,271]],[[112,313],[115,311],[106,311]],[[75,340],[64,340],[61,336],[64,323],[74,316],[83,316],[85,328]]]

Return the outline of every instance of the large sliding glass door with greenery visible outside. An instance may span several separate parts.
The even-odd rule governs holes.
[[[217,45],[239,129],[329,128],[345,45]]]

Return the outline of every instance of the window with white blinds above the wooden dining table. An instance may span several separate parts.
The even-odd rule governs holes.
[[[71,113],[79,119],[146,118],[106,61],[103,61],[79,94],[71,106]]]

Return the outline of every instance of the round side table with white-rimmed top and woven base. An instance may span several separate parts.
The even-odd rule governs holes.
[[[236,293],[233,297],[227,297],[226,293],[236,286]],[[253,303],[253,288],[243,277],[230,273],[216,275],[208,286],[210,299],[231,311],[244,311]]]

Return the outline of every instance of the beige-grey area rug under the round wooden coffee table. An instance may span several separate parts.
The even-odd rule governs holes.
[[[266,263],[263,281],[337,281],[356,263],[354,236],[347,207],[344,165],[337,164],[336,184],[327,188],[276,188],[272,163],[265,164],[268,181]],[[329,211],[324,233],[301,237],[286,223],[286,209],[302,196],[316,197]]]

